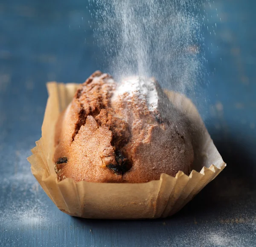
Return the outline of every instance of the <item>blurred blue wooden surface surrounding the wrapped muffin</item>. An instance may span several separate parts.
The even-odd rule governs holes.
[[[45,82],[83,82],[104,70],[96,61],[87,5],[0,1],[0,245],[256,246],[253,0],[215,0],[205,7],[209,25],[217,28],[216,35],[203,29],[209,85],[199,109],[228,166],[183,210],[147,221],[77,219],[59,211],[38,186],[26,157],[41,136]]]

